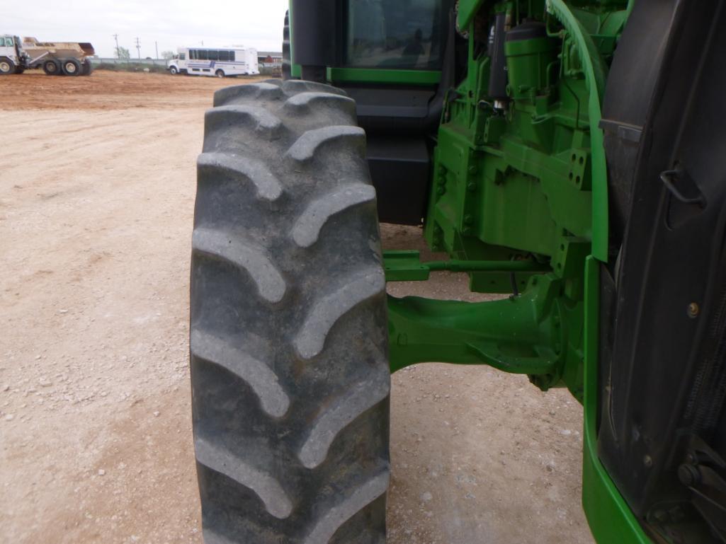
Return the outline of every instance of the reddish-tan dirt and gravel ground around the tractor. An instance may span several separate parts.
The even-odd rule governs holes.
[[[201,543],[187,368],[195,157],[214,89],[0,78],[0,541]],[[386,247],[417,228],[383,226]],[[437,273],[393,294],[470,299]],[[582,409],[523,376],[393,376],[391,544],[592,543]]]

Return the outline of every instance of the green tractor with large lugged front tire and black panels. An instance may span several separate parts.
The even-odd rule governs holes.
[[[427,361],[584,405],[597,542],[726,543],[725,4],[290,1],[284,81],[217,91],[197,164],[207,544],[384,543]],[[502,297],[386,294],[441,270]]]

